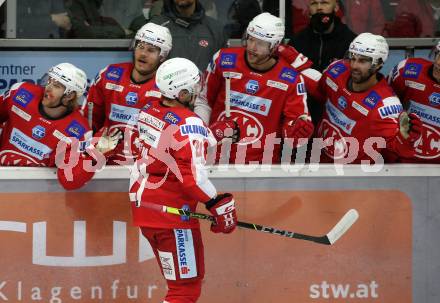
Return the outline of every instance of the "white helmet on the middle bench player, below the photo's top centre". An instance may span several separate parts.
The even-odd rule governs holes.
[[[254,38],[270,43],[270,48],[276,47],[284,38],[284,22],[269,13],[255,16],[246,29],[246,33]]]

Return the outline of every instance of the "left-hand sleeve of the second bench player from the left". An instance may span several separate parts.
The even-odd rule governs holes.
[[[104,73],[107,68],[102,69],[90,86],[87,100],[82,106],[84,117],[88,120],[93,131],[98,131],[105,121],[105,79]]]

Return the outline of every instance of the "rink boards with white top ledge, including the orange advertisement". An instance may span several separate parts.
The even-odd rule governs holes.
[[[241,221],[321,235],[356,208],[358,222],[333,246],[252,230],[214,235],[201,222],[200,302],[438,302],[436,167],[288,170],[211,176],[234,193]],[[53,170],[2,168],[0,302],[159,302],[165,283],[131,226],[127,177],[110,168],[64,192]]]

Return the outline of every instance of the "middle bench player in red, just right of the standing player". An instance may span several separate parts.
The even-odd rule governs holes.
[[[296,146],[299,138],[313,133],[303,76],[291,62],[274,55],[283,37],[282,20],[262,13],[249,23],[245,47],[221,49],[208,66],[202,99],[212,109],[210,128],[218,141],[226,128],[239,130],[229,163],[279,163],[281,138]],[[204,116],[199,103],[195,112]]]

